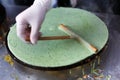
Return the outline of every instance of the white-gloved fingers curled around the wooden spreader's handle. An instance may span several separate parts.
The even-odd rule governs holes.
[[[31,27],[31,28],[29,28],[29,27]],[[28,31],[28,28],[30,29],[29,31]],[[28,23],[23,18],[21,19],[19,16],[16,17],[17,36],[22,41],[27,42],[26,38],[30,38],[29,43],[36,44],[38,41],[38,36],[40,36],[39,30],[40,30],[40,24],[38,24],[36,22]]]

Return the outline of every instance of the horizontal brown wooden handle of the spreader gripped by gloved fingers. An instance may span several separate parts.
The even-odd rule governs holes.
[[[63,40],[63,39],[71,39],[70,36],[48,36],[48,37],[39,37],[38,40]],[[27,37],[26,41],[30,41],[30,38]]]

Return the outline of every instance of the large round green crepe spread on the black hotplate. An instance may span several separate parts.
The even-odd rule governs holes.
[[[98,51],[108,40],[108,30],[104,22],[88,11],[73,8],[51,9],[42,24],[42,36],[67,35],[58,29],[60,24],[68,26]],[[16,25],[11,28],[7,41],[16,58],[37,67],[67,66],[94,54],[74,39],[41,40],[36,45],[25,44],[16,36]]]

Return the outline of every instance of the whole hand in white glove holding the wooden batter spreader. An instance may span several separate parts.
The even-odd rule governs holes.
[[[45,18],[45,14],[50,7],[51,0],[35,0],[33,5],[24,10],[16,17],[17,36],[24,42],[28,36],[27,27],[31,27],[29,33],[30,42],[36,44],[40,35],[40,26]]]

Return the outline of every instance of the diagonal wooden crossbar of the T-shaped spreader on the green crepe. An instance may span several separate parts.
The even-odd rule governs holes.
[[[82,37],[68,29],[65,25],[61,24],[59,26],[59,29],[71,36],[71,38],[77,39],[79,42],[81,42],[86,48],[88,48],[91,52],[96,53],[97,48],[95,48],[93,45],[89,44],[87,41],[85,41]]]

